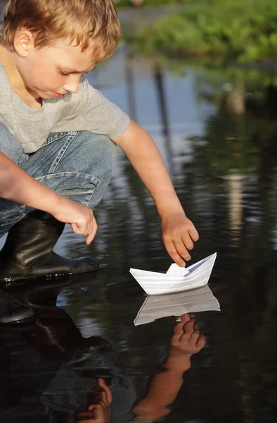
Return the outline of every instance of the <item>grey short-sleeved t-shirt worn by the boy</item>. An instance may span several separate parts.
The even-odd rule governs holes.
[[[26,153],[36,152],[51,132],[89,130],[117,138],[129,126],[129,117],[86,78],[75,94],[58,99],[43,99],[40,109],[31,109],[11,89],[8,75],[0,62],[0,121],[22,144]]]

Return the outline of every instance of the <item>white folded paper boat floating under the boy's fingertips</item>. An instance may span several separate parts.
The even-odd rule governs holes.
[[[166,274],[130,269],[131,274],[148,295],[177,293],[207,285],[217,253],[189,267],[172,264]]]

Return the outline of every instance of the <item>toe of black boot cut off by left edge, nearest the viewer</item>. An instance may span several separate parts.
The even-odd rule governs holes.
[[[30,307],[0,290],[0,325],[30,323],[36,319]]]

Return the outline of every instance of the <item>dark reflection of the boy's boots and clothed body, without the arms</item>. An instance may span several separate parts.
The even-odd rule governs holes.
[[[57,290],[53,281],[49,285],[41,288],[34,281],[13,289],[39,320],[29,330],[7,329],[0,336],[0,422],[23,422],[26,415],[29,423],[74,422],[99,378],[112,391],[115,421],[131,419],[134,387],[112,344],[100,336],[84,338],[56,307]]]

